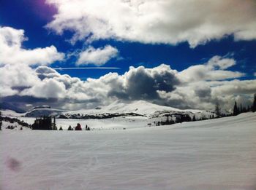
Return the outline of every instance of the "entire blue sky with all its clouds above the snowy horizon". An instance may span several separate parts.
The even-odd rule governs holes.
[[[254,0],[0,0],[0,101],[247,106],[255,50]]]

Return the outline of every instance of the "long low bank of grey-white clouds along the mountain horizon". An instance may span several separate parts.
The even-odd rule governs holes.
[[[235,64],[231,58],[214,56],[204,64],[180,72],[165,64],[154,68],[140,66],[130,67],[124,74],[109,73],[86,81],[59,74],[47,66],[32,69],[23,64],[8,65],[0,68],[0,75],[4,76],[0,81],[0,94],[1,100],[48,103],[67,109],[141,99],[177,108],[200,109],[214,108],[219,101],[223,108],[231,108],[235,100],[251,103],[256,92],[256,80],[230,79],[236,72],[226,70]],[[232,77],[220,76],[219,72],[230,72]]]

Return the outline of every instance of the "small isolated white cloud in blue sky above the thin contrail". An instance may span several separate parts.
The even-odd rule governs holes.
[[[80,52],[77,65],[89,65],[102,66],[112,58],[116,58],[118,50],[115,47],[107,45],[103,48],[94,49],[89,47],[86,51]]]

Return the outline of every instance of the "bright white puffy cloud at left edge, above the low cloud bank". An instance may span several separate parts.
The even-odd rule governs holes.
[[[57,60],[64,60],[64,53],[56,47],[35,48],[26,50],[22,47],[23,30],[0,26],[0,66],[7,64],[49,65]]]

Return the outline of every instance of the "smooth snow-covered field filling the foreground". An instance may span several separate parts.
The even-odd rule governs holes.
[[[0,189],[256,189],[255,136],[256,113],[129,130],[3,130]]]

